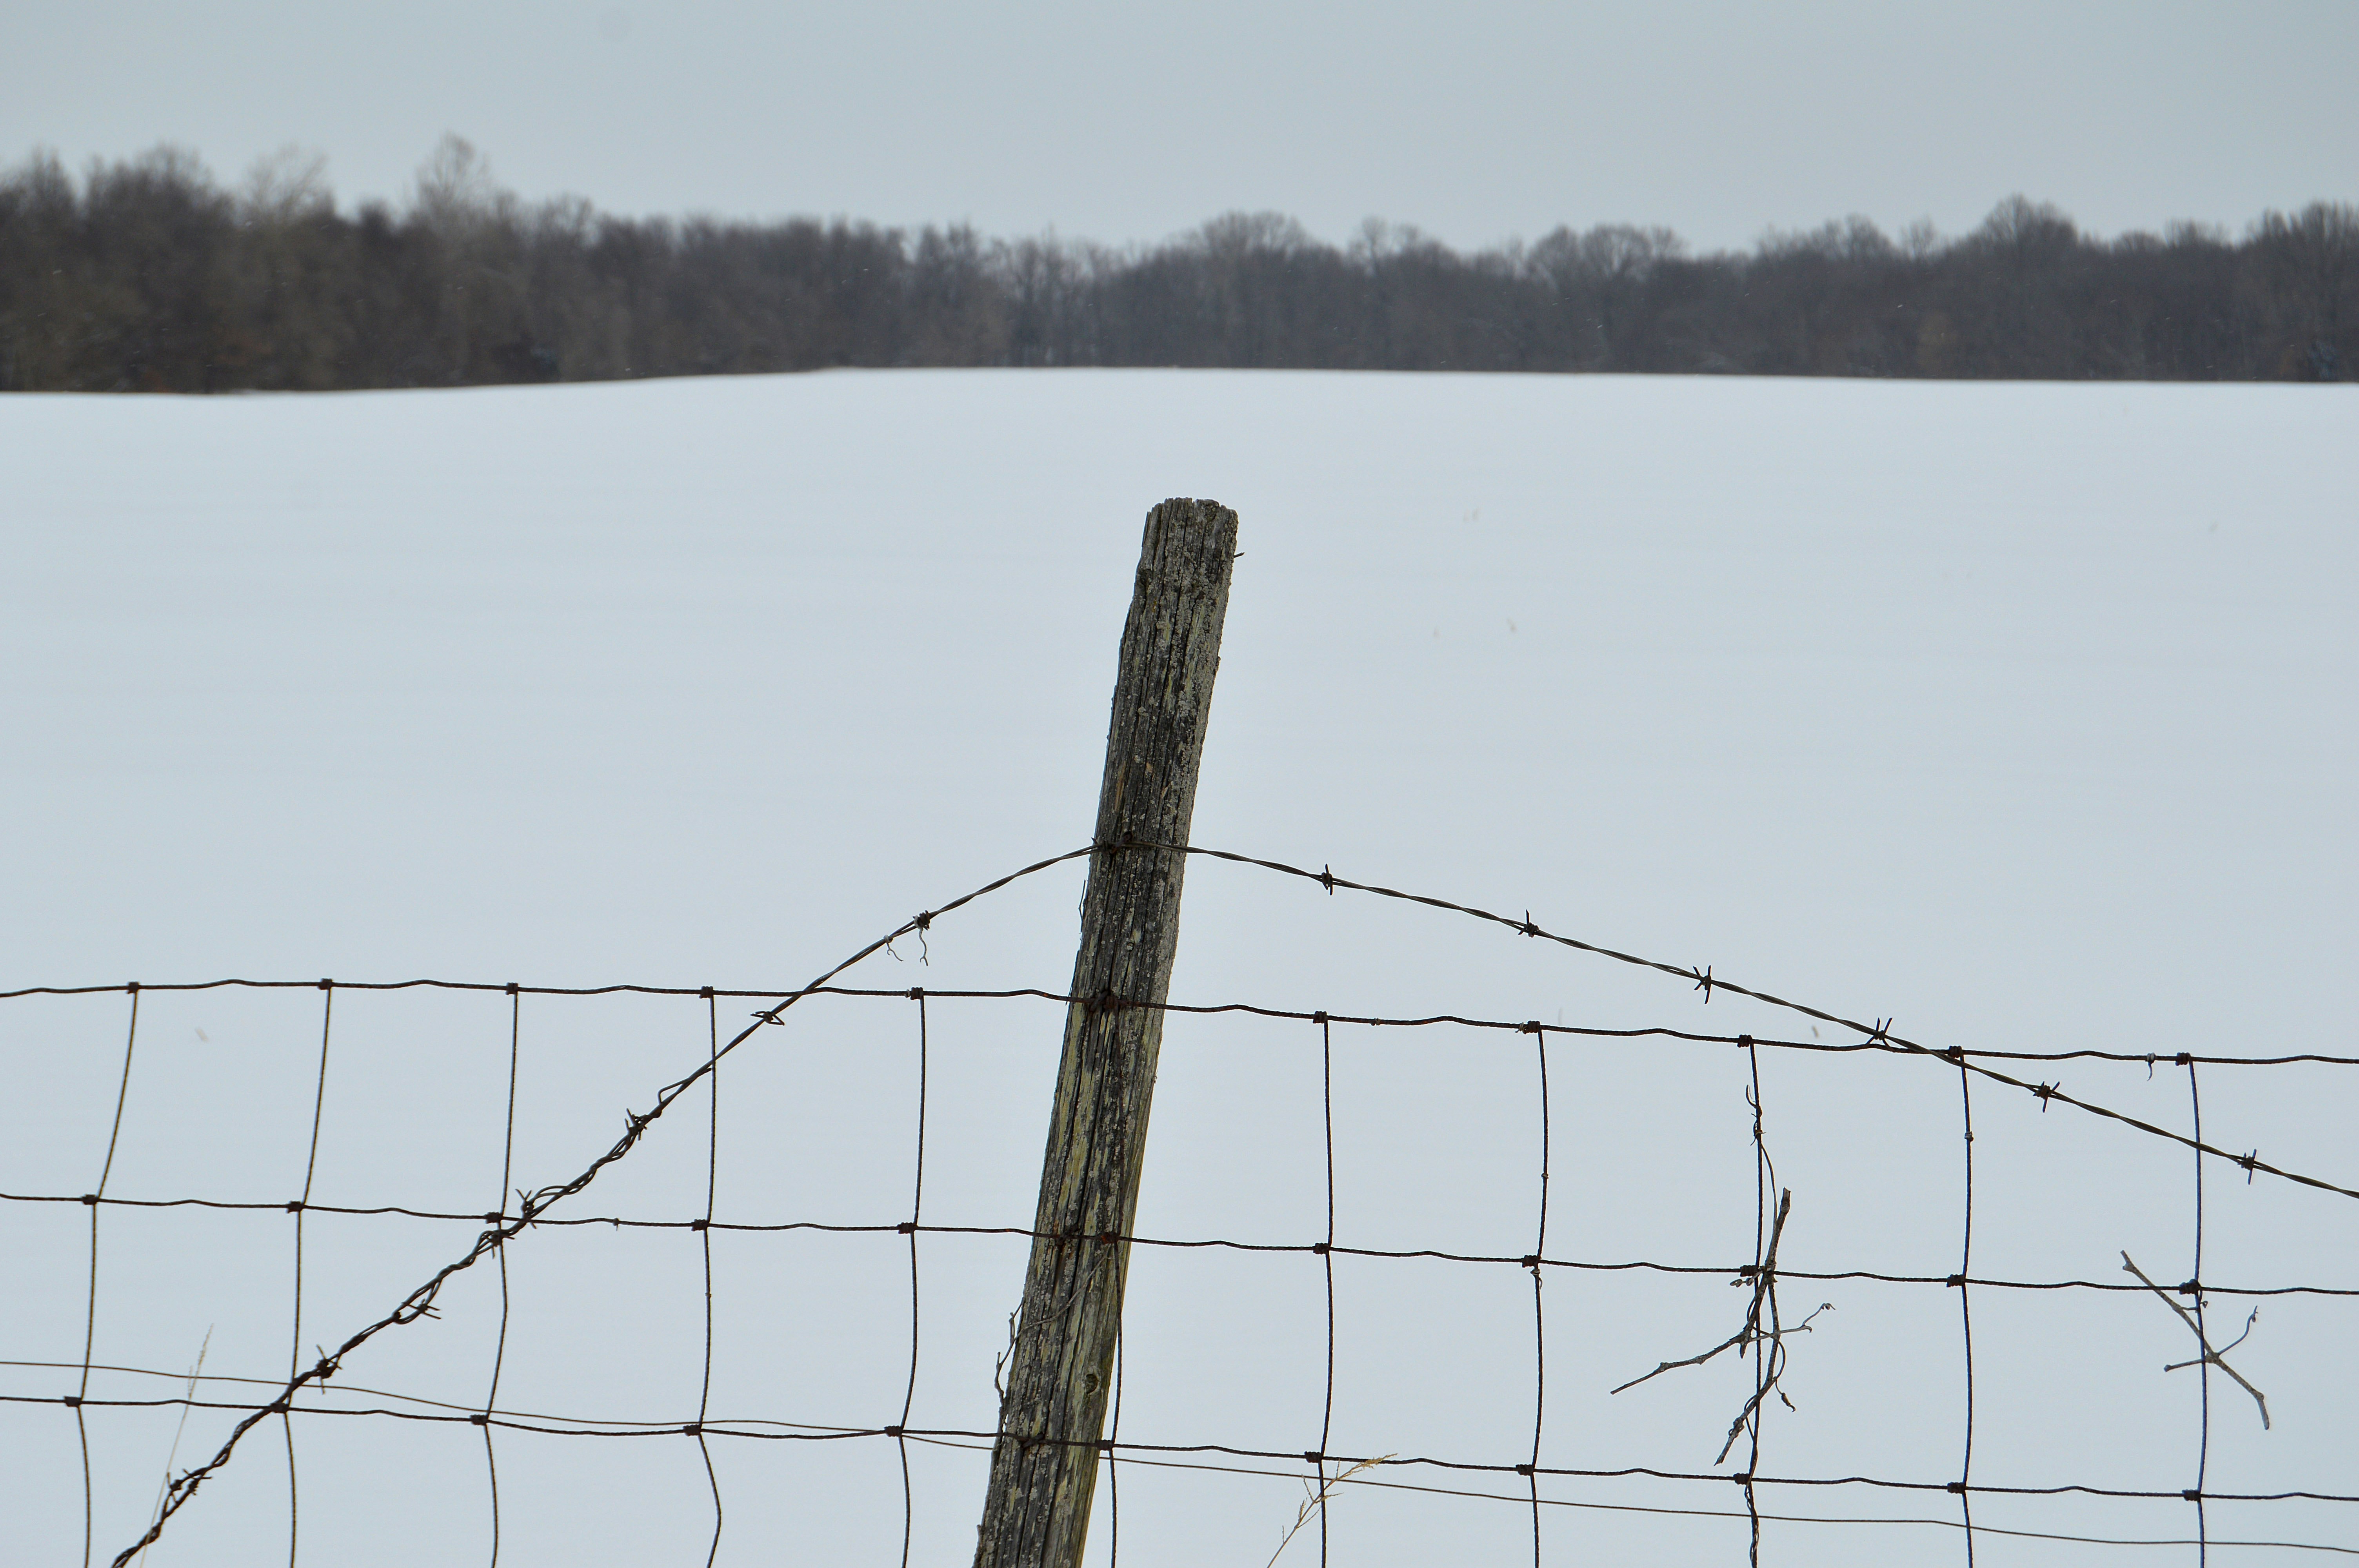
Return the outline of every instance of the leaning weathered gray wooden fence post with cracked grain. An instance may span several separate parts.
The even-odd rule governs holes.
[[[1090,1535],[1130,1273],[1116,1238],[1139,1207],[1187,875],[1184,854],[1125,844],[1187,844],[1234,556],[1236,512],[1220,502],[1146,514],[977,1568],[1076,1568]]]

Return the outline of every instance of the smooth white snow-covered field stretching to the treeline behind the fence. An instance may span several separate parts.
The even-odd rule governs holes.
[[[2359,1056],[2359,398],[2312,387],[1977,387],[1606,377],[842,373],[307,398],[0,401],[0,990],[219,976],[786,990],[1090,830],[1139,519],[1238,509],[1243,559],[1196,842],[1437,894],[1937,1047],[2154,1052],[2005,1063],[2189,1127],[2177,1052]],[[854,969],[878,988],[1071,969],[1078,863]],[[571,1179],[710,1049],[694,997],[333,993],[311,1198],[484,1212]],[[1812,1040],[1812,1021],[1439,910],[1196,861],[1180,1002],[1451,1012]],[[722,1037],[755,1002],[719,1004]],[[290,1365],[323,993],[0,1000],[9,1561],[73,1563],[90,1332],[94,1554],[137,1540],[167,1455],[210,1457]],[[1857,1040],[1819,1026],[1821,1040]],[[1024,1226],[1059,1037],[1043,1002],[927,1004],[925,1221]],[[1514,1259],[1538,1221],[1531,1035],[1338,1028],[1340,1245]],[[1753,1365],[1609,1394],[1732,1335],[1755,1247],[1743,1052],[1548,1035],[1540,1464],[1715,1471]],[[1793,1191],[1788,1271],[1960,1266],[1956,1070],[1760,1059]],[[2359,1186],[2359,1068],[2201,1068],[2203,1134]],[[918,1021],[814,1000],[722,1063],[557,1214],[894,1224]],[[1972,1273],[2194,1269],[2194,1155],[1974,1089]],[[1319,1030],[1175,1016],[1139,1231],[1326,1233]],[[309,1214],[302,1358],[387,1313],[481,1221]],[[498,1408],[696,1419],[705,1266],[682,1228],[507,1250]],[[913,1429],[988,1429],[1024,1240],[918,1238]],[[2359,1200],[2213,1162],[2208,1323],[2269,1396],[2210,1377],[2210,1493],[2354,1493]],[[1795,1280],[1793,1410],[1765,1476],[1960,1474],[1960,1302]],[[2201,1384],[2151,1294],[1974,1287],[1977,1495],[2003,1530],[2189,1540]],[[502,1283],[455,1276],[290,1422],[300,1556],[491,1551],[484,1434]],[[715,1231],[708,1419],[878,1429],[911,1372],[911,1247]],[[1326,1276],[1300,1252],[1132,1261],[1121,1436],[1316,1448]],[[208,1344],[210,1335],[210,1344]],[[50,1363],[50,1365],[42,1365]],[[66,1365],[57,1365],[66,1363]],[[1326,1448],[1517,1464],[1531,1276],[1335,1261]],[[351,1386],[344,1386],[351,1384]],[[375,1394],[366,1394],[375,1391]],[[399,1396],[399,1398],[396,1398]],[[406,1410],[458,1419],[311,1415]],[[729,1427],[736,1422],[738,1427]],[[177,1434],[177,1438],[175,1438]],[[495,1429],[502,1563],[703,1561],[684,1436]],[[710,1438],[719,1561],[899,1563],[901,1450]],[[1151,1457],[1151,1455],[1142,1455]],[[1717,1474],[1736,1471],[1739,1448]],[[1295,1460],[1121,1464],[1121,1554],[1260,1566]],[[972,1551],[984,1455],[911,1443],[911,1561]],[[1262,1474],[1231,1471],[1279,1471]],[[276,1561],[288,1438],[257,1427],[151,1561]],[[1328,1561],[1522,1561],[1510,1474],[1347,1488]],[[1727,1481],[1540,1481],[1548,1561],[1736,1563]],[[1616,1507],[1559,1507],[1616,1504]],[[1691,1509],[1628,1511],[1628,1509]],[[1760,1488],[1762,1561],[1965,1561],[1958,1500]],[[1734,1516],[1729,1516],[1734,1514]],[[1786,1518],[1946,1523],[1788,1523]],[[1109,1497],[1099,1490],[1092,1556]],[[2213,1502],[2215,1540],[2359,1549],[2359,1504]],[[2194,1547],[1977,1535],[1984,1563]],[[1281,1563],[1307,1563],[1316,1535]],[[2215,1561],[2319,1561],[2222,1549]]]

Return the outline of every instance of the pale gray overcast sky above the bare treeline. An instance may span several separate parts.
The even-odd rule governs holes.
[[[1231,207],[1340,238],[1559,222],[1741,245],[2010,191],[2100,233],[2359,196],[2359,7],[1665,0],[87,0],[0,50],[0,156],[288,141],[399,198],[443,132],[618,212],[970,219],[1151,241]]]

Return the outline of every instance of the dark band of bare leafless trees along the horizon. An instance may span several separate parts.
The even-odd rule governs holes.
[[[316,160],[0,174],[0,389],[238,391],[823,365],[2354,380],[2359,207],[2102,241],[2010,196],[1963,236],[1866,219],[1691,255],[1668,229],[1460,252],[1227,215],[1158,245],[524,203],[451,137],[401,207]]]

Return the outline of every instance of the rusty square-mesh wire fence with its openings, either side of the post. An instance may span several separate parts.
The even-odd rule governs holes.
[[[1014,1063],[1109,1000],[845,976],[934,979],[937,920],[1090,854],[790,990],[0,995],[26,1561],[972,1551],[1036,1240]],[[2359,1056],[1934,1047],[1187,854],[1809,1037],[1168,1004],[1146,1186],[1182,1195],[1066,1238],[1132,1276],[1104,1561],[2359,1554],[2359,1188],[2305,1132]]]

